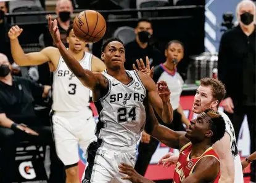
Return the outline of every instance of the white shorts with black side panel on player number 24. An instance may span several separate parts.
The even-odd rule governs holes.
[[[83,174],[82,183],[117,183],[131,182],[121,177],[126,174],[120,173],[118,165],[126,163],[135,165],[136,146],[117,147],[102,142],[92,142],[88,148],[88,163]]]

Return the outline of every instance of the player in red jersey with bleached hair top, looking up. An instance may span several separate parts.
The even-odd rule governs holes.
[[[168,147],[180,149],[180,157],[176,163],[173,183],[217,183],[220,178],[220,162],[212,144],[223,138],[225,134],[225,121],[218,112],[207,109],[191,120],[186,132],[173,131],[157,122],[149,106],[147,117],[149,126],[145,130],[154,138],[159,139]],[[136,173],[133,167],[121,163],[120,172],[127,174],[122,179],[132,182],[153,182]]]

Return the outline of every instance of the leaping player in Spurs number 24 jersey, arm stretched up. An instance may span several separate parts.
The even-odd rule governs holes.
[[[98,141],[88,148],[89,165],[83,183],[123,182],[118,165],[126,162],[134,166],[136,143],[146,119],[144,104],[149,101],[164,122],[171,122],[170,91],[165,82],[160,82],[159,94],[151,77],[126,71],[124,45],[117,38],[102,45],[101,59],[107,67],[104,72],[83,69],[60,41],[57,21],[52,21],[51,15],[48,23],[65,63],[93,91],[93,100],[102,107],[96,130]]]

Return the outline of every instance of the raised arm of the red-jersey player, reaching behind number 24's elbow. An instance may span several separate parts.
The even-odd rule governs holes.
[[[170,130],[170,128],[160,125],[155,117],[153,108],[148,101],[145,102],[145,107],[147,122],[144,130],[148,134],[158,139],[166,146],[174,149],[180,149],[189,142],[189,139],[185,137],[186,133],[184,131],[173,131]]]

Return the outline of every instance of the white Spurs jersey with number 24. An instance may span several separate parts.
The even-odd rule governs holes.
[[[109,91],[96,104],[99,111],[97,137],[122,147],[136,145],[146,121],[143,104],[146,88],[136,71],[126,73],[133,78],[127,85],[107,74],[107,71],[102,72],[109,79]]]

